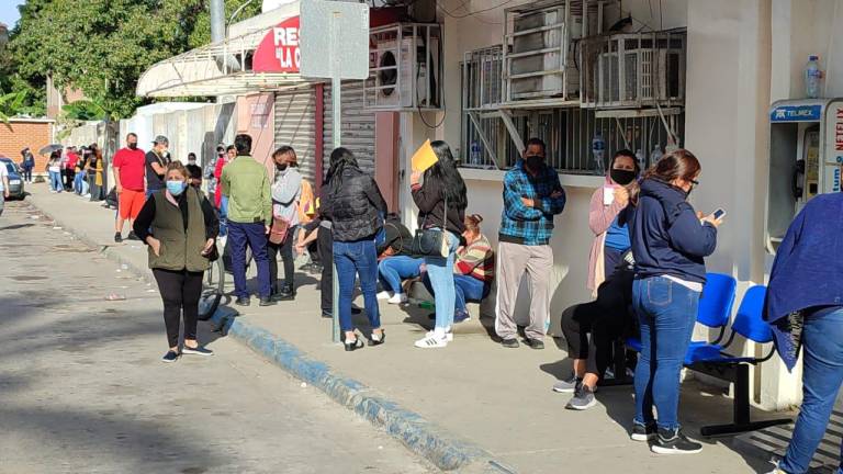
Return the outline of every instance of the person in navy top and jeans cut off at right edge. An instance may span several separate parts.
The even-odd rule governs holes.
[[[802,406],[773,473],[802,474],[843,384],[843,194],[812,199],[787,229],[769,274],[764,318],[788,370],[802,354]],[[843,463],[836,473],[843,473]]]

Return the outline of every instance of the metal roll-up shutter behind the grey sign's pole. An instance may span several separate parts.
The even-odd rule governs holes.
[[[342,82],[342,137],[341,145],[357,157],[360,169],[374,174],[374,112],[363,108],[363,83]],[[330,151],[334,149],[330,86],[325,84],[325,171],[328,170]]]

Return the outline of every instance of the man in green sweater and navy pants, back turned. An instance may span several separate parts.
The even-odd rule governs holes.
[[[246,284],[246,246],[251,248],[258,266],[258,295],[261,306],[274,304],[270,298],[267,234],[272,225],[272,198],[267,168],[251,156],[251,137],[234,139],[237,157],[226,165],[220,177],[223,196],[228,198],[228,242],[232,251],[234,293],[238,306],[249,305]]]

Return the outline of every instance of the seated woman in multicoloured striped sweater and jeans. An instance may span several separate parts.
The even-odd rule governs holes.
[[[480,214],[465,216],[465,232],[462,233],[465,245],[457,249],[453,262],[453,285],[457,290],[454,323],[462,323],[471,317],[465,303],[480,303],[488,296],[492,281],[495,279],[495,253],[492,244],[480,232],[482,222]],[[434,295],[434,287],[426,272],[423,281],[427,291]]]

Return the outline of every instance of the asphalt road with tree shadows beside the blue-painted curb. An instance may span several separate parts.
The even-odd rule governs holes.
[[[434,471],[203,324],[215,357],[161,363],[155,287],[33,216],[0,216],[0,473]]]

